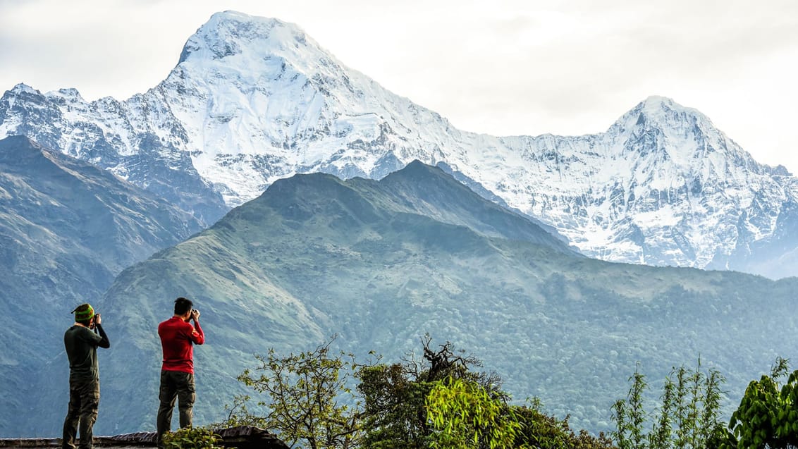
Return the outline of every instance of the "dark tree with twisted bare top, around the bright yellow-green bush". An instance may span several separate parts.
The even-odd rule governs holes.
[[[428,397],[433,388],[443,388],[447,382],[457,381],[466,390],[463,400],[475,401],[485,392],[496,403],[507,404],[508,396],[500,389],[495,374],[476,372],[480,360],[453,349],[449,342],[433,349],[429,335],[422,340],[423,358],[409,356],[403,363],[377,364],[361,371],[358,391],[364,397],[365,411],[363,447],[376,449],[428,449],[438,438],[431,419],[428,419]],[[459,390],[456,390],[459,391]],[[449,391],[452,393],[452,391]],[[484,398],[484,396],[481,396]],[[564,420],[541,412],[539,400],[525,406],[509,405],[501,415],[514,419],[518,431],[512,447],[554,449],[610,449],[612,443],[604,435],[599,438],[580,431],[575,435]],[[452,412],[452,411],[450,411]],[[473,412],[473,411],[472,411]],[[468,413],[468,410],[464,411]],[[498,423],[505,425],[504,420]],[[474,427],[476,429],[476,427]],[[475,430],[475,433],[478,433]],[[480,447],[489,447],[489,438],[480,439]],[[437,441],[440,444],[440,440]]]

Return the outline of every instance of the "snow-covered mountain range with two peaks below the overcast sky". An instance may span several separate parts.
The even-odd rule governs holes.
[[[156,191],[212,223],[276,179],[380,179],[445,163],[614,262],[798,275],[798,183],[695,109],[651,96],[606,132],[488,136],[347,68],[297,26],[214,14],[147,93],[86,102],[17,85],[0,137],[22,134]]]

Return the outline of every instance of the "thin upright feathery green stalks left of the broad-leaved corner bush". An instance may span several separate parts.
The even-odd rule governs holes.
[[[635,369],[625,400],[612,406],[616,430],[612,437],[620,449],[671,449],[717,447],[727,433],[720,423],[721,385],[725,378],[716,369],[674,368],[662,388],[658,415],[645,411],[646,376]],[[645,425],[653,417],[651,430]]]

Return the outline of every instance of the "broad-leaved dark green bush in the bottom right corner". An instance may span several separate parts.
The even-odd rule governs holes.
[[[721,447],[798,447],[798,371],[786,384],[778,382],[788,370],[788,360],[778,358],[771,376],[751,381],[729,421],[733,433]]]

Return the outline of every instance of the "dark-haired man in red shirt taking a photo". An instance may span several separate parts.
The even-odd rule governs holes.
[[[196,398],[194,392],[194,345],[205,342],[199,327],[199,310],[184,297],[175,300],[175,315],[158,325],[164,364],[160,368],[160,408],[158,408],[158,446],[164,433],[172,430],[172,410],[179,400],[180,427],[191,427]],[[194,325],[189,321],[194,320]]]

